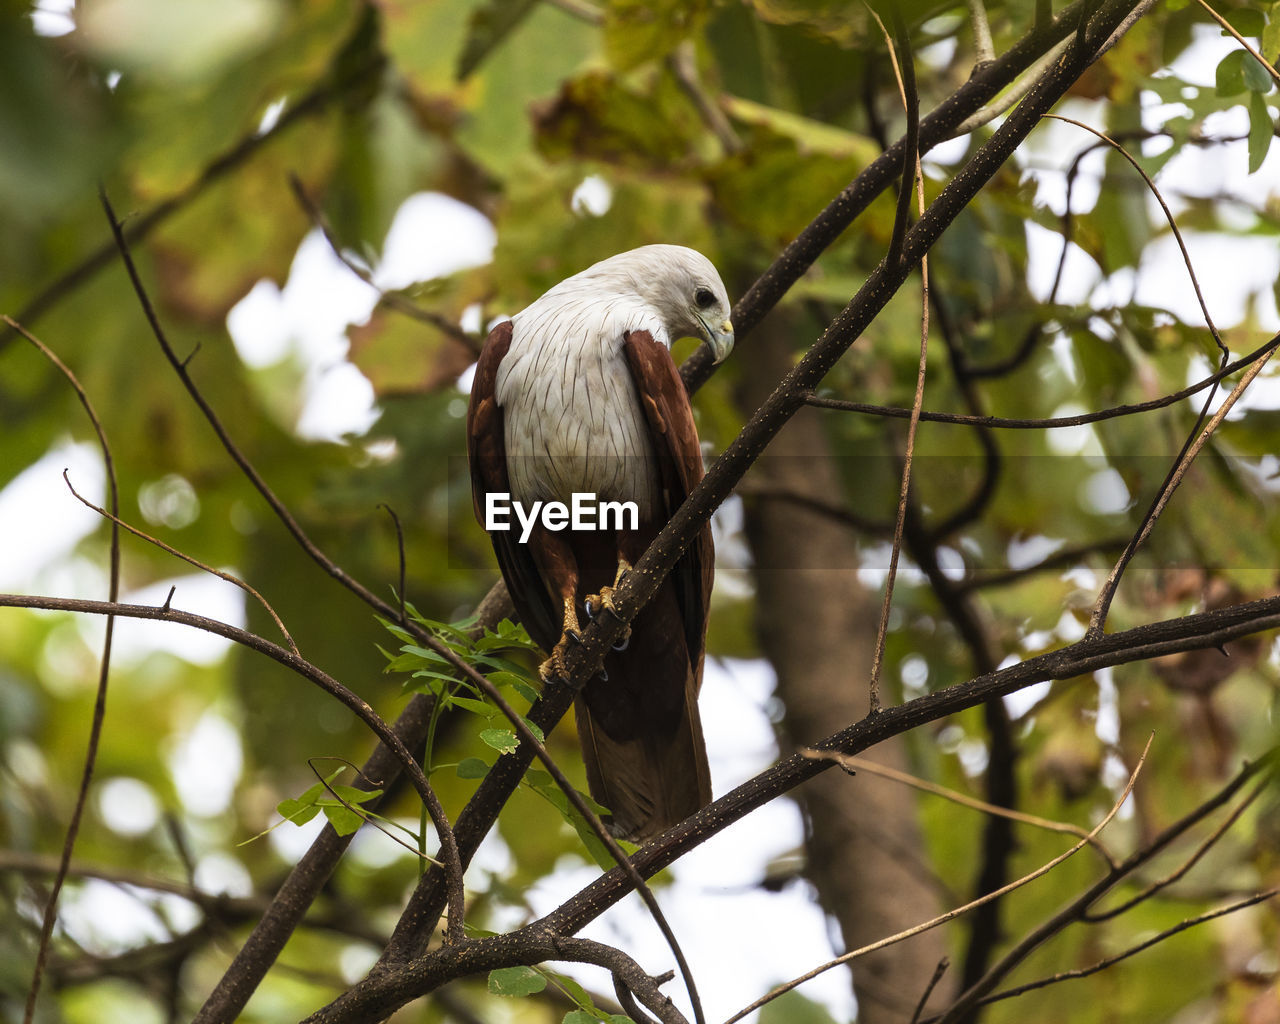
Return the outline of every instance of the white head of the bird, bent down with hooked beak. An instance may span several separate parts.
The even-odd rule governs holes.
[[[728,293],[703,253],[685,246],[641,246],[589,266],[570,280],[639,294],[672,338],[701,338],[716,362],[733,349]]]

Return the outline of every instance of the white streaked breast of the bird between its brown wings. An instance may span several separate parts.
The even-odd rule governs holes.
[[[667,332],[637,300],[562,289],[512,317],[511,347],[498,367],[494,393],[504,413],[512,498],[567,504],[585,492],[634,500],[649,517],[658,476],[622,335],[641,329],[667,343]]]

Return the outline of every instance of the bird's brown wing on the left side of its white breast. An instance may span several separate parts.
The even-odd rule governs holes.
[[[485,495],[511,493],[507,474],[506,417],[494,396],[498,366],[511,347],[511,321],[498,324],[485,339],[467,403],[467,458],[471,463],[471,503],[484,525]],[[534,640],[550,650],[559,639],[561,608],[549,598],[530,545],[515,531],[489,534],[512,604]]]

